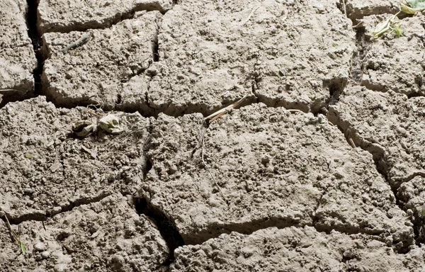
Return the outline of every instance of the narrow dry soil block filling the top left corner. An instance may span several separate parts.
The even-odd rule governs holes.
[[[0,103],[34,93],[37,66],[26,25],[27,2],[0,1]],[[1,105],[1,104],[0,104]]]

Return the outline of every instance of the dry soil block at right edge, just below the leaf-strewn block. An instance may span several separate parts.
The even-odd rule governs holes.
[[[407,98],[349,86],[328,118],[357,146],[368,149],[391,186],[425,176],[425,97]]]

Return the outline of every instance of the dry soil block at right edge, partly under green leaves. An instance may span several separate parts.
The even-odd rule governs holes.
[[[384,19],[392,16],[369,16],[365,18],[366,37]],[[425,95],[424,15],[401,20],[403,34],[395,33],[371,40],[365,45],[362,61],[361,84],[373,91],[396,91],[407,96]]]

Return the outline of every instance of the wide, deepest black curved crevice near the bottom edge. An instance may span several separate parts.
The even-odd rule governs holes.
[[[169,247],[169,259],[162,265],[169,266],[174,261],[174,250],[185,245],[176,225],[166,217],[164,212],[154,207],[147,198],[135,198],[135,209],[139,215],[146,215],[157,225],[159,233]]]

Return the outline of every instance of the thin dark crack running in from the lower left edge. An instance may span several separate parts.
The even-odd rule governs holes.
[[[98,196],[94,196],[92,198],[81,198],[79,200],[75,200],[72,203],[69,203],[68,205],[64,205],[60,207],[60,210],[49,210],[46,212],[32,212],[32,213],[28,213],[28,214],[24,214],[24,215],[10,215],[7,214],[8,220],[9,222],[11,222],[11,224],[13,225],[18,225],[21,224],[21,222],[24,221],[45,221],[47,220],[47,218],[49,217],[53,217],[57,214],[60,214],[62,212],[69,212],[70,210],[79,207],[81,205],[86,205],[86,204],[90,204],[90,203],[96,203],[100,200],[102,200],[103,198],[106,198],[107,196],[110,196],[111,193],[101,193]]]

